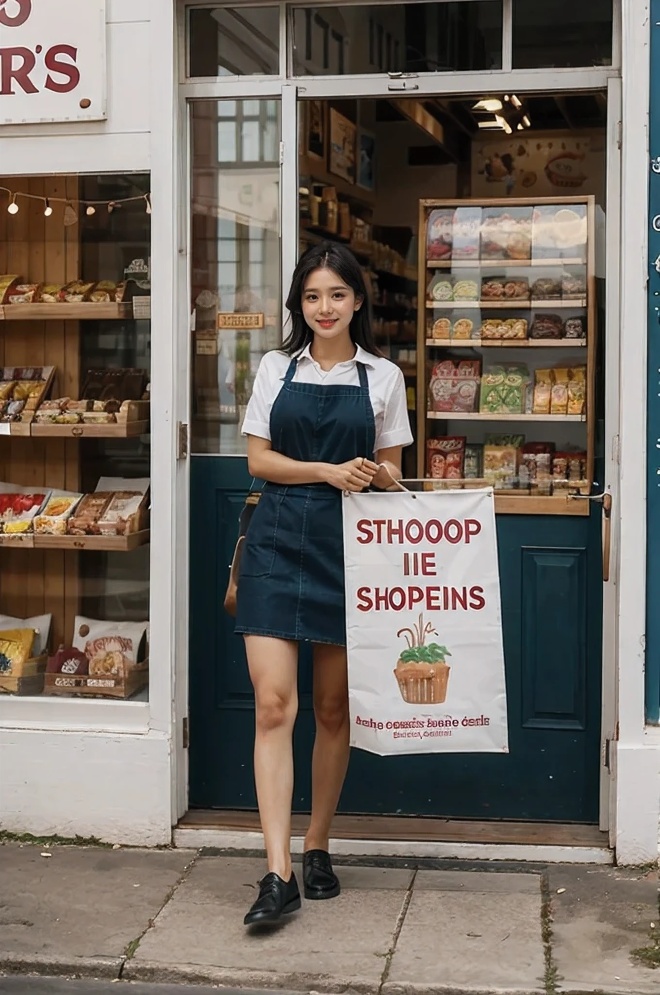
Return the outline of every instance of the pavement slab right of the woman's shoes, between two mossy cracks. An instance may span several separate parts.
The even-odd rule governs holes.
[[[538,875],[420,872],[384,995],[545,992]]]

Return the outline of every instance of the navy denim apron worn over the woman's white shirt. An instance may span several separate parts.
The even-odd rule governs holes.
[[[272,448],[305,463],[374,459],[367,371],[360,386],[297,383],[296,359],[270,411]],[[266,484],[241,559],[236,632],[346,645],[342,494],[329,484]]]

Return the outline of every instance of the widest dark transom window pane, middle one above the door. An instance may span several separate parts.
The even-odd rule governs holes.
[[[502,67],[501,0],[296,7],[294,76]]]

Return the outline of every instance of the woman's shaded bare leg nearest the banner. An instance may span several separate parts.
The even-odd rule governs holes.
[[[328,850],[349,758],[348,668],[343,646],[314,647],[312,815],[304,850]]]

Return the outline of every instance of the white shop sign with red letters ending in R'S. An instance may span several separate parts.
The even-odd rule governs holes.
[[[0,0],[0,124],[105,117],[105,0]]]

